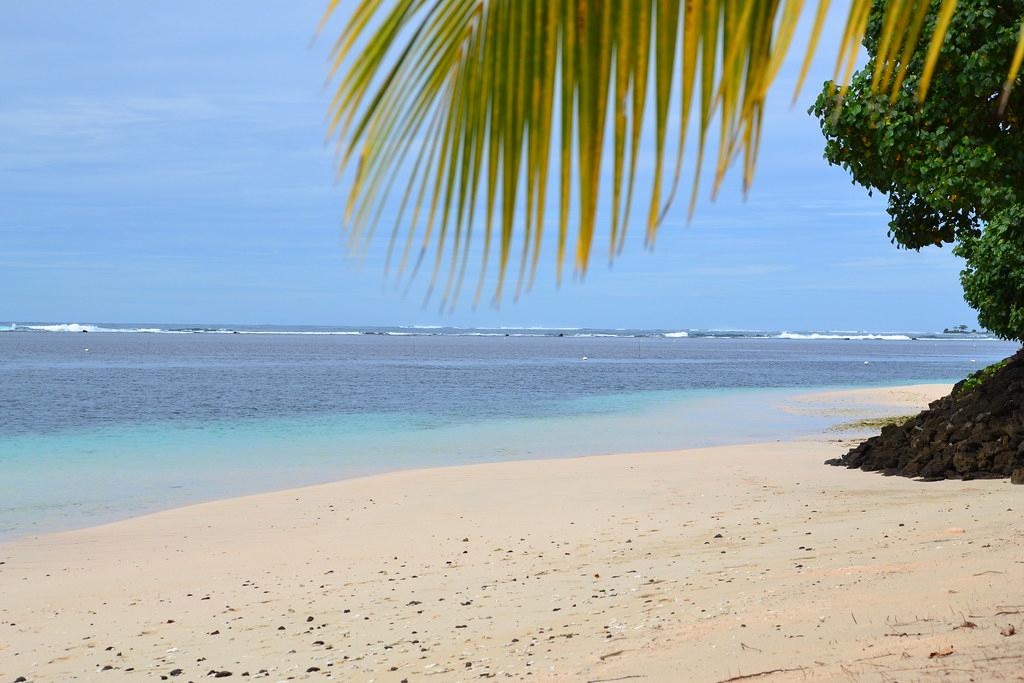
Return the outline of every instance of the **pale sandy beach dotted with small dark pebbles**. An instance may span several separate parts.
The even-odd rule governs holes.
[[[1024,680],[1024,489],[822,465],[849,443],[403,471],[0,544],[0,683]]]

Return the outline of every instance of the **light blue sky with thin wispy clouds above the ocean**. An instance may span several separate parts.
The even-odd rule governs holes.
[[[344,249],[344,181],[324,144],[330,40],[310,46],[324,4],[5,7],[0,323],[927,331],[976,321],[949,250],[897,251],[884,199],[821,160],[805,112],[830,75],[827,49],[795,108],[799,56],[783,69],[745,202],[730,186],[689,225],[675,207],[654,251],[634,230],[625,256],[610,268],[595,258],[583,284],[558,289],[545,270],[500,309],[424,306],[425,280],[408,294],[383,282],[380,245],[361,261]]]

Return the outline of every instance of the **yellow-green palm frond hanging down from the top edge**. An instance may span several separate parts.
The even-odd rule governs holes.
[[[331,0],[322,28],[338,4]],[[801,84],[828,7],[819,0]],[[874,87],[894,98],[903,93],[901,66],[927,34],[916,85],[925,97],[955,7],[956,0],[889,0]],[[872,0],[851,2],[836,61],[839,96],[871,9]],[[712,131],[713,196],[738,159],[750,186],[768,88],[802,13],[803,0],[359,0],[332,51],[337,89],[329,113],[340,173],[351,178],[345,221],[353,248],[394,213],[388,265],[404,231],[398,271],[415,262],[415,275],[429,262],[433,292],[446,270],[440,298],[454,305],[470,245],[482,232],[476,300],[497,249],[499,301],[516,243],[516,294],[532,284],[549,220],[557,224],[559,280],[570,224],[572,266],[582,275],[602,212],[614,258],[645,161],[651,179],[641,216],[653,244],[683,177],[691,117],[691,214]],[[1005,91],[1022,59],[1024,27]],[[649,160],[639,158],[645,134]],[[606,166],[610,196],[602,185]],[[557,206],[549,207],[552,196]]]

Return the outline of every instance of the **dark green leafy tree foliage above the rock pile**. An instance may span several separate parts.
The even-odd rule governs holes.
[[[869,60],[845,96],[826,83],[811,108],[825,159],[888,198],[897,246],[954,244],[967,261],[965,298],[981,324],[1024,340],[1024,102],[1020,89],[1001,99],[1024,0],[959,3],[924,103],[872,88],[890,69],[877,58],[887,4],[872,8],[864,36]],[[933,2],[925,35],[938,9]],[[916,87],[925,54],[919,47],[907,62],[904,91]]]

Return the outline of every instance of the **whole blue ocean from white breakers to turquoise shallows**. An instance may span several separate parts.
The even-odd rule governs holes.
[[[798,393],[952,382],[984,335],[0,327],[0,539],[416,467],[753,442]]]

